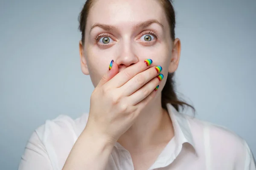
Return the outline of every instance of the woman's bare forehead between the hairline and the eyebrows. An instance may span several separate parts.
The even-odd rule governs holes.
[[[90,9],[87,25],[125,26],[152,19],[167,24],[164,9],[158,0],[96,0]]]

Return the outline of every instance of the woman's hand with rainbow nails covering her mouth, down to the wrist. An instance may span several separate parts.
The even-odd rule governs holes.
[[[154,98],[163,79],[163,74],[159,74],[162,68],[149,68],[152,60],[145,61],[122,72],[115,62],[111,62],[111,70],[102,77],[91,95],[85,130],[107,137],[108,142],[114,144],[131,127],[140,111]]]

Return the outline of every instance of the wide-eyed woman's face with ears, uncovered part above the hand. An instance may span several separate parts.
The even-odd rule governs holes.
[[[113,59],[119,71],[138,61],[168,72],[177,69],[180,41],[172,41],[165,11],[158,0],[96,0],[87,18],[81,68],[94,87]]]

